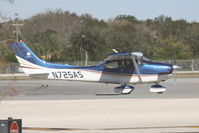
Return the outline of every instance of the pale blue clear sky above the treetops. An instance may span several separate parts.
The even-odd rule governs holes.
[[[104,20],[125,14],[138,20],[165,15],[174,20],[199,22],[199,0],[14,0],[14,4],[7,1],[0,0],[0,12],[12,18],[15,13],[26,19],[47,10],[62,9]]]

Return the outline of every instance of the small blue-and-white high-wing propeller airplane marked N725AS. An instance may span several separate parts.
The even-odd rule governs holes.
[[[110,54],[96,66],[74,66],[48,63],[37,57],[24,42],[10,43],[23,72],[32,78],[57,79],[69,81],[90,81],[120,84],[114,91],[130,94],[132,85],[152,83],[150,92],[163,93],[166,87],[160,85],[169,79],[179,66],[153,62],[141,52]]]

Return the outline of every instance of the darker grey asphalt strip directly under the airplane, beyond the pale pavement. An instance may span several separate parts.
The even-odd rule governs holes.
[[[0,80],[0,99],[64,100],[64,99],[126,99],[126,98],[199,98],[199,78],[170,79],[161,85],[163,94],[149,92],[150,84],[135,85],[130,95],[117,95],[118,84],[60,80]]]

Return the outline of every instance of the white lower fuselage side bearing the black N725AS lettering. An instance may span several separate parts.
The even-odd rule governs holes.
[[[168,74],[141,74],[141,80],[137,74],[110,73],[88,69],[54,69],[46,68],[36,64],[32,64],[17,56],[20,67],[26,75],[42,75],[47,74],[47,79],[61,79],[73,81],[89,81],[103,83],[120,83],[120,84],[136,84],[136,83],[158,83],[167,80]]]

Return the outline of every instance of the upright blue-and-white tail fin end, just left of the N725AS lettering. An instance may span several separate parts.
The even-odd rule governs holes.
[[[24,42],[14,42],[10,47],[15,53],[15,56],[20,64],[20,68],[27,75],[46,73],[44,71],[45,62],[37,57]]]

